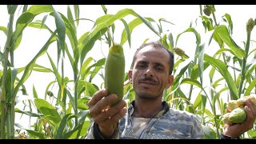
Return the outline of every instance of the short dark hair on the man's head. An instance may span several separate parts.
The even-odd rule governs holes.
[[[142,46],[140,46],[134,53],[134,58],[133,58],[133,62],[131,63],[131,68],[134,67],[135,58],[136,58],[136,55],[138,54],[139,50],[142,50],[142,48],[146,47],[146,46],[153,46],[154,48],[159,47],[159,48],[162,48],[167,51],[167,53],[170,56],[170,58],[169,58],[169,63],[170,63],[169,74],[171,74],[174,69],[174,54],[170,50],[168,50],[165,46],[163,46],[162,43],[160,43],[160,42],[147,42],[147,43],[142,44]]]

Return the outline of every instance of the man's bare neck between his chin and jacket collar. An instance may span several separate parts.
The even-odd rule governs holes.
[[[135,100],[134,114],[135,118],[153,118],[162,110],[162,102],[148,101],[148,100]]]

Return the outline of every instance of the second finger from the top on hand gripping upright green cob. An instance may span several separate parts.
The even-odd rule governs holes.
[[[94,116],[101,114],[104,112],[106,107],[110,106],[110,104],[115,102],[117,99],[118,96],[116,94],[110,94],[107,97],[102,98],[93,107],[90,108],[90,115],[94,118]]]

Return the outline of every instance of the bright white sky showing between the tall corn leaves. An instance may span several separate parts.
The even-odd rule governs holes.
[[[54,9],[62,14],[66,15],[66,7],[65,5],[54,5]],[[18,9],[21,8],[20,6]],[[119,10],[123,10],[125,8],[133,9],[137,14],[140,14],[142,17],[150,17],[153,18],[155,21],[158,21],[159,18],[165,18],[167,21],[174,23],[171,25],[170,23],[162,23],[164,27],[164,32],[169,31],[174,35],[174,39],[184,30],[189,28],[190,22],[197,22],[198,26],[202,25],[200,19],[196,21],[196,18],[200,15],[199,13],[199,5],[106,5],[108,9],[108,14],[116,14]],[[234,38],[235,42],[238,42],[238,46],[243,47],[242,42],[246,41],[246,22],[249,18],[256,18],[256,5],[217,5],[215,6],[216,9],[216,19],[217,22],[222,21],[222,16],[224,14],[230,14],[234,30],[232,38]],[[22,8],[19,10],[19,13],[15,14],[14,18],[18,18],[20,13],[22,12]],[[38,15],[35,19],[41,19],[46,14]],[[93,21],[96,18],[104,15],[102,7],[99,5],[82,5],[80,6],[80,18],[89,18]],[[5,5],[0,6],[0,26],[6,26],[8,24],[8,13]],[[133,20],[134,16],[128,15],[126,16],[125,20],[130,22]],[[54,30],[54,18],[48,17],[46,20],[46,24],[52,27]],[[93,26],[93,22],[89,21],[80,21],[78,26],[78,38],[86,31],[89,31]],[[120,42],[121,39],[121,30],[123,30],[124,26],[121,21],[115,22],[116,32],[114,34],[115,42]],[[203,34],[202,31],[198,31],[198,33]],[[253,30],[252,39],[255,39],[256,31]],[[26,66],[34,55],[38,53],[38,50],[42,48],[45,44],[46,40],[50,37],[50,34],[46,30],[39,30],[34,28],[26,28],[23,32],[23,38],[20,46],[18,49],[14,51],[14,66],[21,67]],[[134,29],[133,33],[131,34],[131,47],[128,45],[128,42],[125,43],[124,50],[126,55],[126,72],[130,69],[130,63],[132,60],[132,56],[134,51],[138,46],[144,42],[146,38],[150,38],[150,40],[157,40],[158,37],[148,29],[148,27],[138,26]],[[202,35],[202,39],[204,35]],[[6,35],[0,31],[0,48],[3,51],[3,47],[6,42]],[[195,38],[194,34],[186,33],[182,34],[179,38],[178,47],[182,48],[186,51],[186,54],[192,56],[195,50]],[[103,58],[107,54],[108,47],[105,43],[97,42],[95,47],[98,49],[91,50],[88,56],[91,56],[95,59]],[[215,51],[214,46],[209,47],[206,50],[206,53],[213,54]],[[56,55],[56,50],[53,47],[50,47],[48,50],[49,54],[53,56]],[[67,58],[66,58],[67,59]],[[46,54],[41,58],[38,58],[38,64],[42,66],[46,66],[51,68],[50,62],[48,62],[48,58]],[[69,78],[73,78],[72,69],[70,67],[70,62],[66,61],[66,70],[65,74]],[[54,80],[53,74],[44,74],[42,73],[33,72],[30,75],[30,78],[26,81],[27,92],[29,95],[32,96],[32,86],[34,85],[36,90],[38,91],[38,96],[44,98],[44,93],[46,90],[46,86],[50,81]],[[100,82],[101,83],[101,82]]]

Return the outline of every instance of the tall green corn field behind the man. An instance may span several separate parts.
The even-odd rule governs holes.
[[[237,39],[233,37],[235,15],[217,15],[218,6],[214,5],[198,5],[198,17],[182,23],[187,27],[178,32],[173,26],[179,24],[164,15],[150,18],[129,6],[114,14],[109,13],[108,6],[94,6],[101,11],[93,19],[81,14],[86,6],[79,5],[63,6],[65,13],[54,5],[2,7],[6,9],[2,17],[8,18],[8,23],[0,26],[5,40],[0,45],[1,139],[85,138],[90,125],[86,103],[104,87],[110,38],[126,51],[126,82],[128,59],[138,48],[134,42],[151,40],[147,33],[134,35],[139,29],[154,35],[174,53],[174,82],[164,91],[163,100],[174,109],[195,114],[206,138],[219,138],[227,102],[256,93],[256,14],[242,22],[244,35]],[[36,33],[27,35],[28,30]],[[193,41],[187,48],[181,43],[185,36],[188,42]],[[33,37],[42,41],[30,46],[24,40]],[[20,55],[26,49],[30,49],[29,54]],[[23,58],[26,63],[19,63]],[[40,85],[36,78],[46,80],[46,85]],[[36,81],[36,85],[28,84]],[[124,94],[127,104],[134,100],[131,84],[124,85]],[[255,129],[242,138],[255,138]]]

